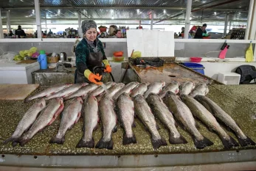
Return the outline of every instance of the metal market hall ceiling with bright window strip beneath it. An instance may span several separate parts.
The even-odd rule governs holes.
[[[186,0],[39,0],[41,20],[52,23],[91,18],[103,23],[150,24],[153,10],[154,24],[184,24]],[[1,0],[1,17],[7,21],[10,10],[12,24],[35,24],[33,0]],[[193,0],[191,21],[224,23],[226,14],[230,21],[246,22],[249,0]]]

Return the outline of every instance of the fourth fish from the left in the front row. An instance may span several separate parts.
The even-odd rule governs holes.
[[[97,99],[89,95],[83,104],[83,137],[77,143],[76,148],[94,148],[92,133],[97,129],[99,120]]]

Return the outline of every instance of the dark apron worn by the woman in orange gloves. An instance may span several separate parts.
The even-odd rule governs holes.
[[[101,68],[96,68],[94,70],[94,67],[101,67],[103,63],[103,53],[101,51],[99,52],[91,52],[89,54],[89,57],[86,60],[86,65],[89,70],[91,70],[91,73],[99,73],[100,76],[102,76],[102,70]],[[75,84],[76,83],[83,83],[83,82],[88,82],[89,81],[86,76],[84,76],[84,73],[80,73],[79,70],[75,70]]]

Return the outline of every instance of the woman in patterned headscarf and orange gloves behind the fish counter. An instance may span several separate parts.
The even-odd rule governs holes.
[[[97,24],[94,21],[83,21],[83,40],[78,43],[75,56],[77,70],[75,70],[75,83],[93,82],[103,84],[102,63],[105,65],[105,73],[111,73],[111,67],[103,50],[103,43],[97,38]],[[95,68],[95,69],[94,69]],[[95,74],[94,74],[94,73]]]

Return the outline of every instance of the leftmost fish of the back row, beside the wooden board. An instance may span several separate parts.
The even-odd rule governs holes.
[[[66,89],[67,87],[71,86],[72,84],[56,84],[54,86],[51,86],[49,88],[46,88],[45,90],[38,92],[36,95],[32,95],[30,97],[25,98],[24,102],[27,103],[29,101],[34,100],[35,98],[44,98],[49,95],[54,94],[55,92],[59,92],[60,90]]]

